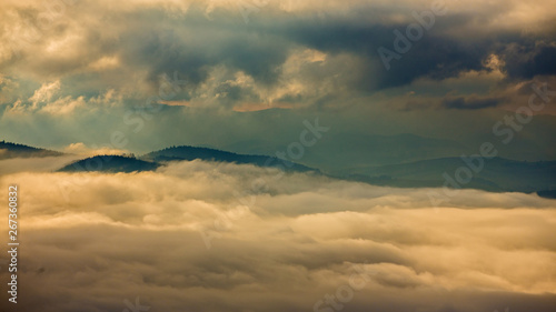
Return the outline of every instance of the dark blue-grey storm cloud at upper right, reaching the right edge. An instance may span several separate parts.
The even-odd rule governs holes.
[[[354,12],[353,16],[376,14],[373,11],[361,11]],[[478,36],[471,32],[454,34],[469,29],[477,21],[487,22],[488,19],[461,13],[436,17],[436,23],[429,31],[424,31],[423,38],[408,40],[410,49],[399,53],[399,60],[391,60],[389,70],[385,69],[377,53],[378,48],[396,52],[394,41],[397,37],[394,31],[400,31],[407,40],[406,29],[415,20],[381,24],[334,17],[327,20],[301,18],[285,32],[298,43],[320,51],[358,56],[363,60],[361,73],[359,80],[351,85],[358,90],[400,87],[419,78],[444,80],[466,71],[489,71],[485,62],[493,53],[502,54],[505,61],[503,70],[512,79],[556,73],[556,42],[550,41],[549,33],[522,36],[517,31],[485,30]]]

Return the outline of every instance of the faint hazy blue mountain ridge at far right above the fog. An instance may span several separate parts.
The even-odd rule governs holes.
[[[484,168],[473,172],[470,182],[459,183],[461,188],[526,193],[556,189],[556,161],[527,162],[503,158],[484,161]],[[444,172],[454,178],[456,170],[461,167],[467,168],[459,158],[443,158],[353,169],[353,173],[344,178],[378,185],[434,188],[444,184]]]

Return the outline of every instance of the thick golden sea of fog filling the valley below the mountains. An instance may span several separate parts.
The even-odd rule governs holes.
[[[2,175],[26,209],[19,283],[29,299],[18,304],[120,311],[140,298],[160,311],[310,311],[355,268],[369,281],[346,311],[552,311],[556,302],[552,200],[463,190],[435,210],[426,190],[276,177],[200,161]],[[200,231],[216,235],[210,250]]]

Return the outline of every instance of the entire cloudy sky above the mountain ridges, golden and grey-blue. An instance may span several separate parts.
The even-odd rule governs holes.
[[[318,154],[369,158],[368,138],[410,133],[473,150],[517,110],[534,118],[503,157],[556,157],[552,1],[48,3],[0,4],[8,141],[269,154],[319,118],[332,131],[305,161],[335,168],[346,160]]]

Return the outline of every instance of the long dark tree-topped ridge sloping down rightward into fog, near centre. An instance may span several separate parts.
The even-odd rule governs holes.
[[[285,171],[317,171],[299,163],[280,160],[274,157],[266,155],[248,155],[248,154],[237,154],[232,152],[226,152],[209,148],[196,148],[196,147],[171,147],[160,151],[150,152],[143,157],[143,160],[163,162],[163,161],[176,161],[176,160],[205,160],[205,161],[216,161],[216,162],[234,162],[238,164],[255,164],[258,167],[278,167]]]

